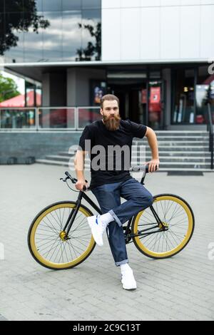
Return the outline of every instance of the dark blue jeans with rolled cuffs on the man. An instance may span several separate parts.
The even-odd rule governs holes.
[[[153,196],[141,182],[131,178],[124,182],[104,184],[91,190],[98,200],[101,212],[109,212],[114,221],[108,224],[107,235],[116,266],[128,263],[123,223],[153,203]],[[121,197],[126,202],[121,204]]]

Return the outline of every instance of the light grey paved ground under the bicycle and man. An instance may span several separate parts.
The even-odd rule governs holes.
[[[195,233],[171,259],[149,259],[128,245],[138,289],[121,288],[105,237],[78,267],[51,271],[37,264],[26,237],[31,221],[46,205],[76,200],[59,178],[66,168],[49,165],[0,166],[0,320],[214,320],[214,173],[204,176],[146,176],[153,195],[170,192],[195,213]],[[86,177],[88,177],[86,175]],[[89,193],[88,193],[89,194]],[[91,197],[93,195],[90,192]]]

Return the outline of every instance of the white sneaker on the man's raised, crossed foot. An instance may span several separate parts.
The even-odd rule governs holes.
[[[103,246],[103,232],[105,232],[107,223],[100,220],[100,215],[93,215],[92,217],[87,217],[88,225],[91,228],[93,239],[96,244],[100,247]]]

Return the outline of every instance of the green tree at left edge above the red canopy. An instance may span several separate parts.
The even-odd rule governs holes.
[[[15,81],[11,78],[6,78],[0,73],[0,103],[4,100],[14,98],[21,94],[18,91]]]

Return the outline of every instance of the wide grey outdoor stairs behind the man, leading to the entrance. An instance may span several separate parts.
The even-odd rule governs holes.
[[[197,130],[158,130],[158,149],[160,156],[159,171],[213,171],[210,170],[209,135],[205,131]],[[145,157],[139,157],[139,150],[145,145]],[[142,155],[143,151],[141,151]],[[75,152],[59,152],[57,155],[46,155],[36,163],[62,165],[73,169]],[[151,149],[146,138],[134,139],[132,147],[131,165],[140,165],[151,160]],[[86,170],[90,170],[90,160],[86,158]]]

